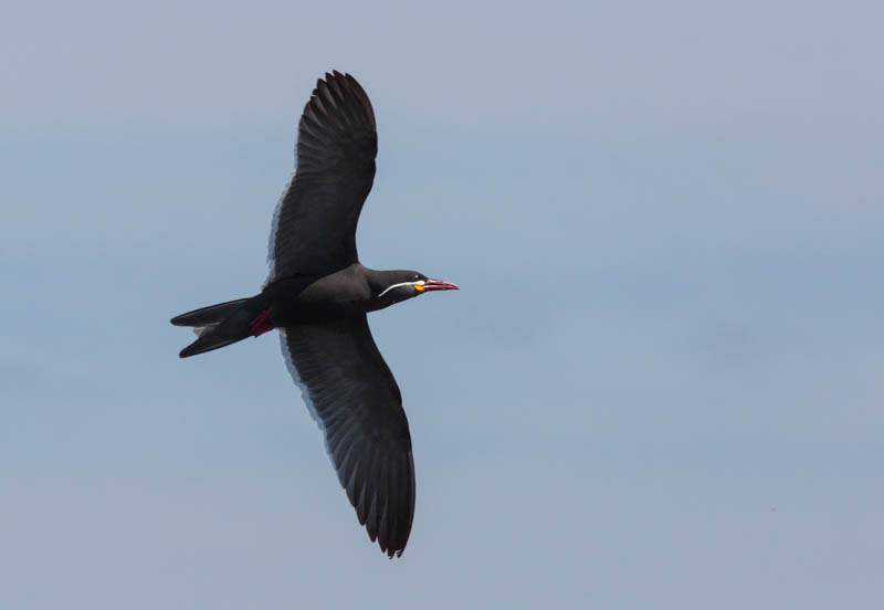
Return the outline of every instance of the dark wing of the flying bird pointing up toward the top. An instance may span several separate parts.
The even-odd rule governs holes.
[[[349,74],[326,74],[304,106],[297,170],[271,231],[269,281],[327,275],[357,261],[356,223],[375,180],[378,136],[368,95]]]

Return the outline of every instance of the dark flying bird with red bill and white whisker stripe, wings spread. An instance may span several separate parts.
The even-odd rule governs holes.
[[[356,225],[375,180],[375,111],[350,74],[316,82],[297,127],[295,171],[270,239],[259,294],[171,318],[198,338],[188,358],[278,329],[288,371],[372,543],[401,557],[414,518],[414,460],[399,386],[367,314],[456,284],[359,262]]]

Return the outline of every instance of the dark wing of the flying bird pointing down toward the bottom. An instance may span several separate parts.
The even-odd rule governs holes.
[[[414,517],[411,434],[368,320],[290,326],[281,338],[359,523],[387,555],[401,555]]]

